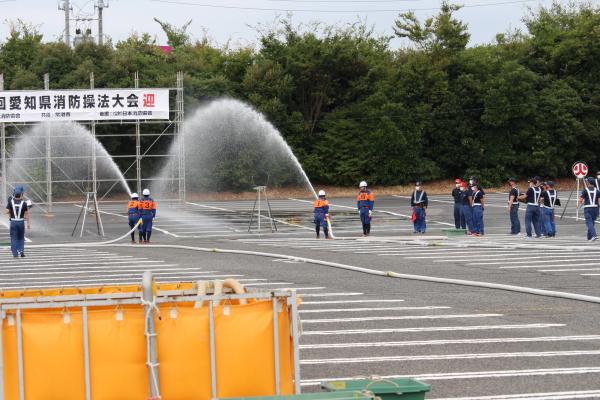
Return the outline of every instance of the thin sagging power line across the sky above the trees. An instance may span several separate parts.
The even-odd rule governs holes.
[[[269,7],[244,7],[244,6],[229,6],[220,4],[208,4],[208,3],[194,3],[191,1],[181,0],[150,0],[155,3],[167,3],[176,4],[183,6],[196,6],[204,8],[220,8],[228,10],[244,10],[244,11],[278,11],[278,12],[315,12],[315,13],[375,13],[375,12],[408,12],[408,11],[436,11],[440,7],[430,8],[405,8],[405,9],[371,9],[371,10],[331,10],[331,9],[292,9],[292,8],[269,8]],[[513,0],[513,1],[501,1],[496,3],[479,3],[479,4],[468,4],[463,5],[462,8],[475,8],[475,7],[489,7],[489,6],[501,6],[509,4],[524,4],[530,2],[539,2],[540,0]]]

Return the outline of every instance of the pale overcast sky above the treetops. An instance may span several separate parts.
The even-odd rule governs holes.
[[[72,0],[74,16],[93,15],[96,1]],[[598,4],[599,1],[593,0],[593,3]],[[488,43],[500,32],[523,29],[522,18],[527,15],[529,7],[536,9],[540,5],[551,4],[551,0],[456,2],[466,6],[457,13],[457,17],[469,25],[471,45]],[[0,0],[0,42],[8,33],[8,21],[17,19],[38,26],[46,41],[62,37],[64,14],[58,10],[58,3],[63,1]],[[166,37],[153,17],[176,26],[192,19],[188,31],[193,38],[202,38],[206,32],[216,44],[223,45],[229,41],[232,46],[239,47],[256,43],[257,34],[253,26],[272,24],[278,16],[290,12],[297,23],[318,20],[334,24],[360,19],[374,26],[376,32],[391,35],[399,12],[413,9],[420,19],[424,19],[436,14],[440,3],[440,0],[110,0],[109,8],[104,11],[104,31],[114,42],[133,32],[148,32],[157,38],[159,44],[166,44]],[[84,27],[86,23],[79,24]],[[72,34],[75,25],[72,22]],[[91,27],[95,35],[97,22],[91,22]],[[394,39],[392,45],[398,47],[402,43]]]

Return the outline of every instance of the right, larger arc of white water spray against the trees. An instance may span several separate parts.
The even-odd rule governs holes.
[[[185,122],[170,154],[184,141],[186,193],[244,192],[254,186],[306,188],[316,193],[291,148],[259,112],[233,99],[199,108]],[[178,162],[167,163],[153,186],[156,196],[176,197]]]

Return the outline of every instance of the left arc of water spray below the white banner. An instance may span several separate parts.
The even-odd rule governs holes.
[[[92,191],[92,152],[96,154],[97,194],[130,194],[119,167],[90,131],[75,123],[45,123],[27,130],[10,149],[7,164],[11,186],[21,184],[26,197],[46,201],[46,143],[50,138],[54,201],[85,199]]]

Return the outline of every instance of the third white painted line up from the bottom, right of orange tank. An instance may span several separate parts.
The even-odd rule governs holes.
[[[522,357],[569,357],[599,355],[600,350],[567,350],[567,351],[523,351],[512,353],[464,353],[464,354],[429,354],[421,356],[383,356],[352,358],[315,358],[300,360],[302,365],[317,364],[354,364],[393,361],[430,361],[430,360],[479,360],[488,358],[522,358]]]

